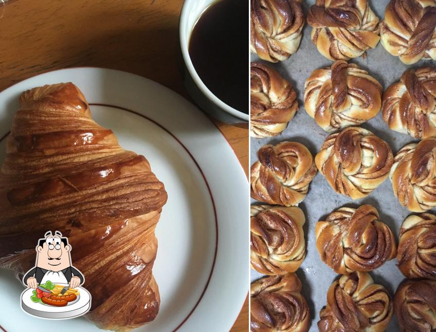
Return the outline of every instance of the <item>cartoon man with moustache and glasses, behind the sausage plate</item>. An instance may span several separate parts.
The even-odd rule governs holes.
[[[69,284],[76,288],[85,281],[83,274],[71,265],[71,246],[68,239],[62,237],[61,232],[45,233],[37,245],[36,266],[27,271],[23,277],[23,284],[36,289],[38,284],[51,281],[53,284]]]

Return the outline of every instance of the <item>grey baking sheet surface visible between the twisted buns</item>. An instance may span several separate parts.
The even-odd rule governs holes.
[[[378,18],[383,19],[388,0],[372,0],[370,6],[377,14]],[[307,8],[312,6],[315,0],[303,1],[304,13]],[[324,58],[316,46],[311,41],[310,32],[312,27],[305,24],[303,28],[303,37],[297,52],[290,56],[289,59],[270,63],[259,60],[255,54],[251,55],[251,61],[261,61],[271,67],[274,67],[284,78],[292,82],[297,92],[299,110],[288,127],[279,136],[265,139],[251,137],[251,160],[250,163],[257,161],[256,152],[264,144],[277,144],[282,141],[296,141],[304,144],[312,154],[320,150],[324,138],[329,135],[315,120],[312,119],[304,110],[304,82],[315,68],[330,66],[332,61]],[[390,55],[380,43],[375,49],[367,51],[367,57],[352,59],[349,62],[356,63],[362,69],[368,71],[375,77],[383,89],[399,80],[403,72],[410,67],[416,68],[424,65],[434,65],[433,61],[419,61],[412,66],[403,64],[398,57]],[[373,119],[361,127],[366,128],[378,137],[384,139],[390,145],[394,155],[404,145],[412,142],[418,142],[410,135],[397,133],[390,130],[383,121],[381,111]],[[252,202],[256,202],[252,200]],[[398,243],[398,231],[403,220],[411,214],[407,208],[399,204],[392,191],[392,184],[389,178],[376,188],[368,197],[353,201],[351,198],[336,194],[325,178],[318,172],[312,181],[306,198],[299,204],[305,216],[304,234],[306,239],[306,258],[303,264],[296,272],[303,284],[303,295],[311,309],[311,329],[317,331],[317,322],[319,320],[319,311],[326,304],[326,294],[331,283],[339,277],[329,266],[325,265],[316,250],[315,244],[315,223],[318,220],[324,220],[334,210],[341,206],[357,207],[362,204],[373,205],[380,214],[380,219],[386,223],[394,233]],[[432,212],[432,211],[430,211]],[[385,286],[392,298],[398,284],[403,281],[403,274],[397,269],[396,259],[392,259],[380,268],[370,272],[376,284]],[[262,274],[251,270],[251,281],[255,281]],[[398,331],[398,324],[393,316],[387,331]]]

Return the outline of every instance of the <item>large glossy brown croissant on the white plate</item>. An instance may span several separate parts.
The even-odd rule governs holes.
[[[163,184],[144,156],[95,123],[74,84],[28,90],[20,104],[0,170],[0,267],[21,279],[38,239],[60,231],[92,294],[90,321],[119,331],[152,321]]]

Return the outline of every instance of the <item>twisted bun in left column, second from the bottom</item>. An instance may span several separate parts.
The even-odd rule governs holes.
[[[268,275],[297,271],[306,256],[301,208],[251,205],[250,215],[251,267]]]

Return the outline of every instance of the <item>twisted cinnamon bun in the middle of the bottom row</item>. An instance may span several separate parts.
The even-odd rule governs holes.
[[[327,305],[319,312],[320,332],[381,332],[392,318],[388,291],[374,284],[367,272],[342,275],[327,292]]]

